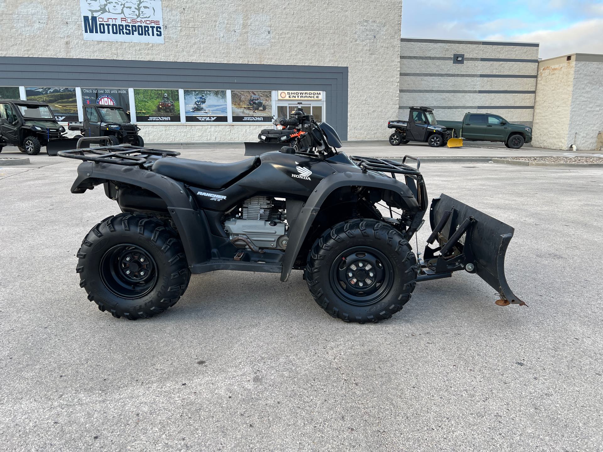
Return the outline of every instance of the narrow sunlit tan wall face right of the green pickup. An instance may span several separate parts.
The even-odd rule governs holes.
[[[574,58],[549,58],[538,63],[532,146],[567,149],[575,70]]]

